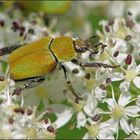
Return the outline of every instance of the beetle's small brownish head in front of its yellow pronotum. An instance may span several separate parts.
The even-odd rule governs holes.
[[[95,44],[93,45],[92,43],[90,43],[90,40],[95,37],[96,36],[92,36],[86,40],[74,38],[73,44],[75,51],[77,53],[84,53],[85,51],[90,51],[92,54],[95,54]]]

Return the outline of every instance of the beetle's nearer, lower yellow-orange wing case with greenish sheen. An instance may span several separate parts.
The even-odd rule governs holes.
[[[14,80],[49,74],[56,67],[52,54],[46,50],[37,50],[10,62],[10,74]]]

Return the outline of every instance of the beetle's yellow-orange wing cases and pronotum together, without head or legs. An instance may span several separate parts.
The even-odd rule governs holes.
[[[14,80],[21,80],[43,76],[55,69],[57,60],[70,61],[75,56],[73,40],[70,37],[56,39],[46,37],[11,53],[9,58],[11,77]]]

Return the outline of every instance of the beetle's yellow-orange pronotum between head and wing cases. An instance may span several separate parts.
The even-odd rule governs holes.
[[[59,62],[70,61],[77,55],[72,38],[66,36],[55,38],[51,44],[51,50]]]

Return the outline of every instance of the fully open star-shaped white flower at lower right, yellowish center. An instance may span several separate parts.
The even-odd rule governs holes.
[[[109,121],[112,122],[117,131],[120,125],[126,134],[130,134],[133,131],[133,125],[128,123],[129,117],[138,117],[140,108],[137,105],[129,106],[129,103],[134,101],[133,99],[130,100],[132,98],[130,93],[121,93],[118,102],[114,98],[113,89],[112,96],[113,98],[105,99],[111,111],[111,119]]]

